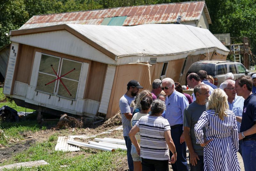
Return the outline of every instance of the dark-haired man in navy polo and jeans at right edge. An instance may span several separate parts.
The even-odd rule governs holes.
[[[240,76],[236,78],[235,90],[238,96],[243,96],[243,119],[240,118],[241,127],[239,140],[242,139],[241,150],[245,171],[256,168],[256,95],[252,93],[252,78]]]

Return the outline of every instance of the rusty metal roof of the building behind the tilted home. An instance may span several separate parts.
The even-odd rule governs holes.
[[[199,20],[205,12],[208,23],[212,24],[209,12],[204,1],[182,3],[140,5],[117,7],[101,10],[76,11],[59,14],[35,15],[30,18],[20,29],[52,26],[59,24],[89,24],[101,25],[105,18],[127,16],[123,26],[141,24],[174,23],[178,16],[181,22]]]

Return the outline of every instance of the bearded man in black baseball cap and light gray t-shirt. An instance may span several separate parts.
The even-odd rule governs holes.
[[[125,145],[127,148],[127,160],[129,171],[133,171],[133,161],[131,155],[132,142],[129,137],[129,132],[132,129],[131,119],[133,108],[130,104],[135,99],[135,96],[139,93],[139,89],[143,88],[140,83],[136,80],[131,80],[127,84],[127,92],[119,100],[119,108],[121,110],[122,124],[123,124],[123,136],[125,140]]]

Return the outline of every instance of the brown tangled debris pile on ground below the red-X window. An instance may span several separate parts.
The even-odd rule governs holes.
[[[67,114],[62,115],[57,124],[57,129],[69,128],[69,127],[82,128],[83,127],[82,119],[79,120],[74,117],[70,117]]]

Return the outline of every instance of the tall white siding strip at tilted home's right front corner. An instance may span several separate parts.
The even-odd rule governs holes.
[[[99,107],[99,112],[103,114],[107,114],[107,111],[108,111],[108,103],[109,103],[110,94],[111,94],[113,81],[115,77],[115,71],[116,71],[116,66],[108,65],[103,92],[100,100],[100,107]]]

